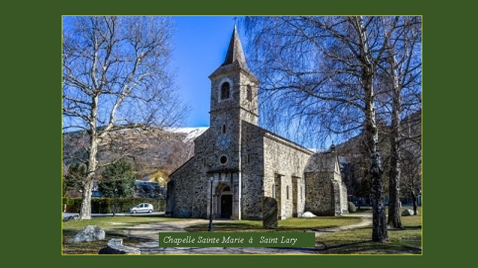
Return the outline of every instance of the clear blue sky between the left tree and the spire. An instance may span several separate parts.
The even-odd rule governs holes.
[[[175,16],[172,67],[179,94],[192,110],[182,127],[209,126],[211,81],[224,62],[234,27],[233,16]],[[245,45],[242,29],[239,36]]]

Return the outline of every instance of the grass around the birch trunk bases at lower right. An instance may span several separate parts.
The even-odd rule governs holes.
[[[421,254],[421,215],[404,216],[402,224],[402,230],[388,230],[388,243],[371,241],[371,227],[324,234],[316,242],[322,254]]]

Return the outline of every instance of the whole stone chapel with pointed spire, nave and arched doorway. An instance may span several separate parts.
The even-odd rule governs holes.
[[[166,215],[208,218],[212,210],[215,218],[262,219],[263,197],[277,201],[279,219],[348,212],[333,149],[314,153],[257,125],[259,80],[236,26],[224,63],[209,78],[210,127],[194,140],[194,156],[170,175]]]

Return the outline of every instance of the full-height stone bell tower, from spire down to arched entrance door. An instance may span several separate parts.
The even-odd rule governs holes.
[[[211,122],[208,130],[210,151],[207,176],[213,178],[213,199],[216,198],[212,204],[213,213],[240,219],[241,122],[257,125],[259,82],[247,67],[236,25],[224,63],[209,78]]]

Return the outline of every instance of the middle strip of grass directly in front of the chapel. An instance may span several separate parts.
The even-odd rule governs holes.
[[[271,229],[273,231],[304,231],[317,230],[325,228],[334,228],[339,226],[359,223],[359,217],[316,217],[316,218],[288,218],[279,220],[279,227]],[[208,230],[208,224],[197,224],[186,228],[188,232],[204,232]],[[263,231],[262,221],[260,220],[239,220],[236,222],[214,222],[214,230],[218,232],[225,231]]]

